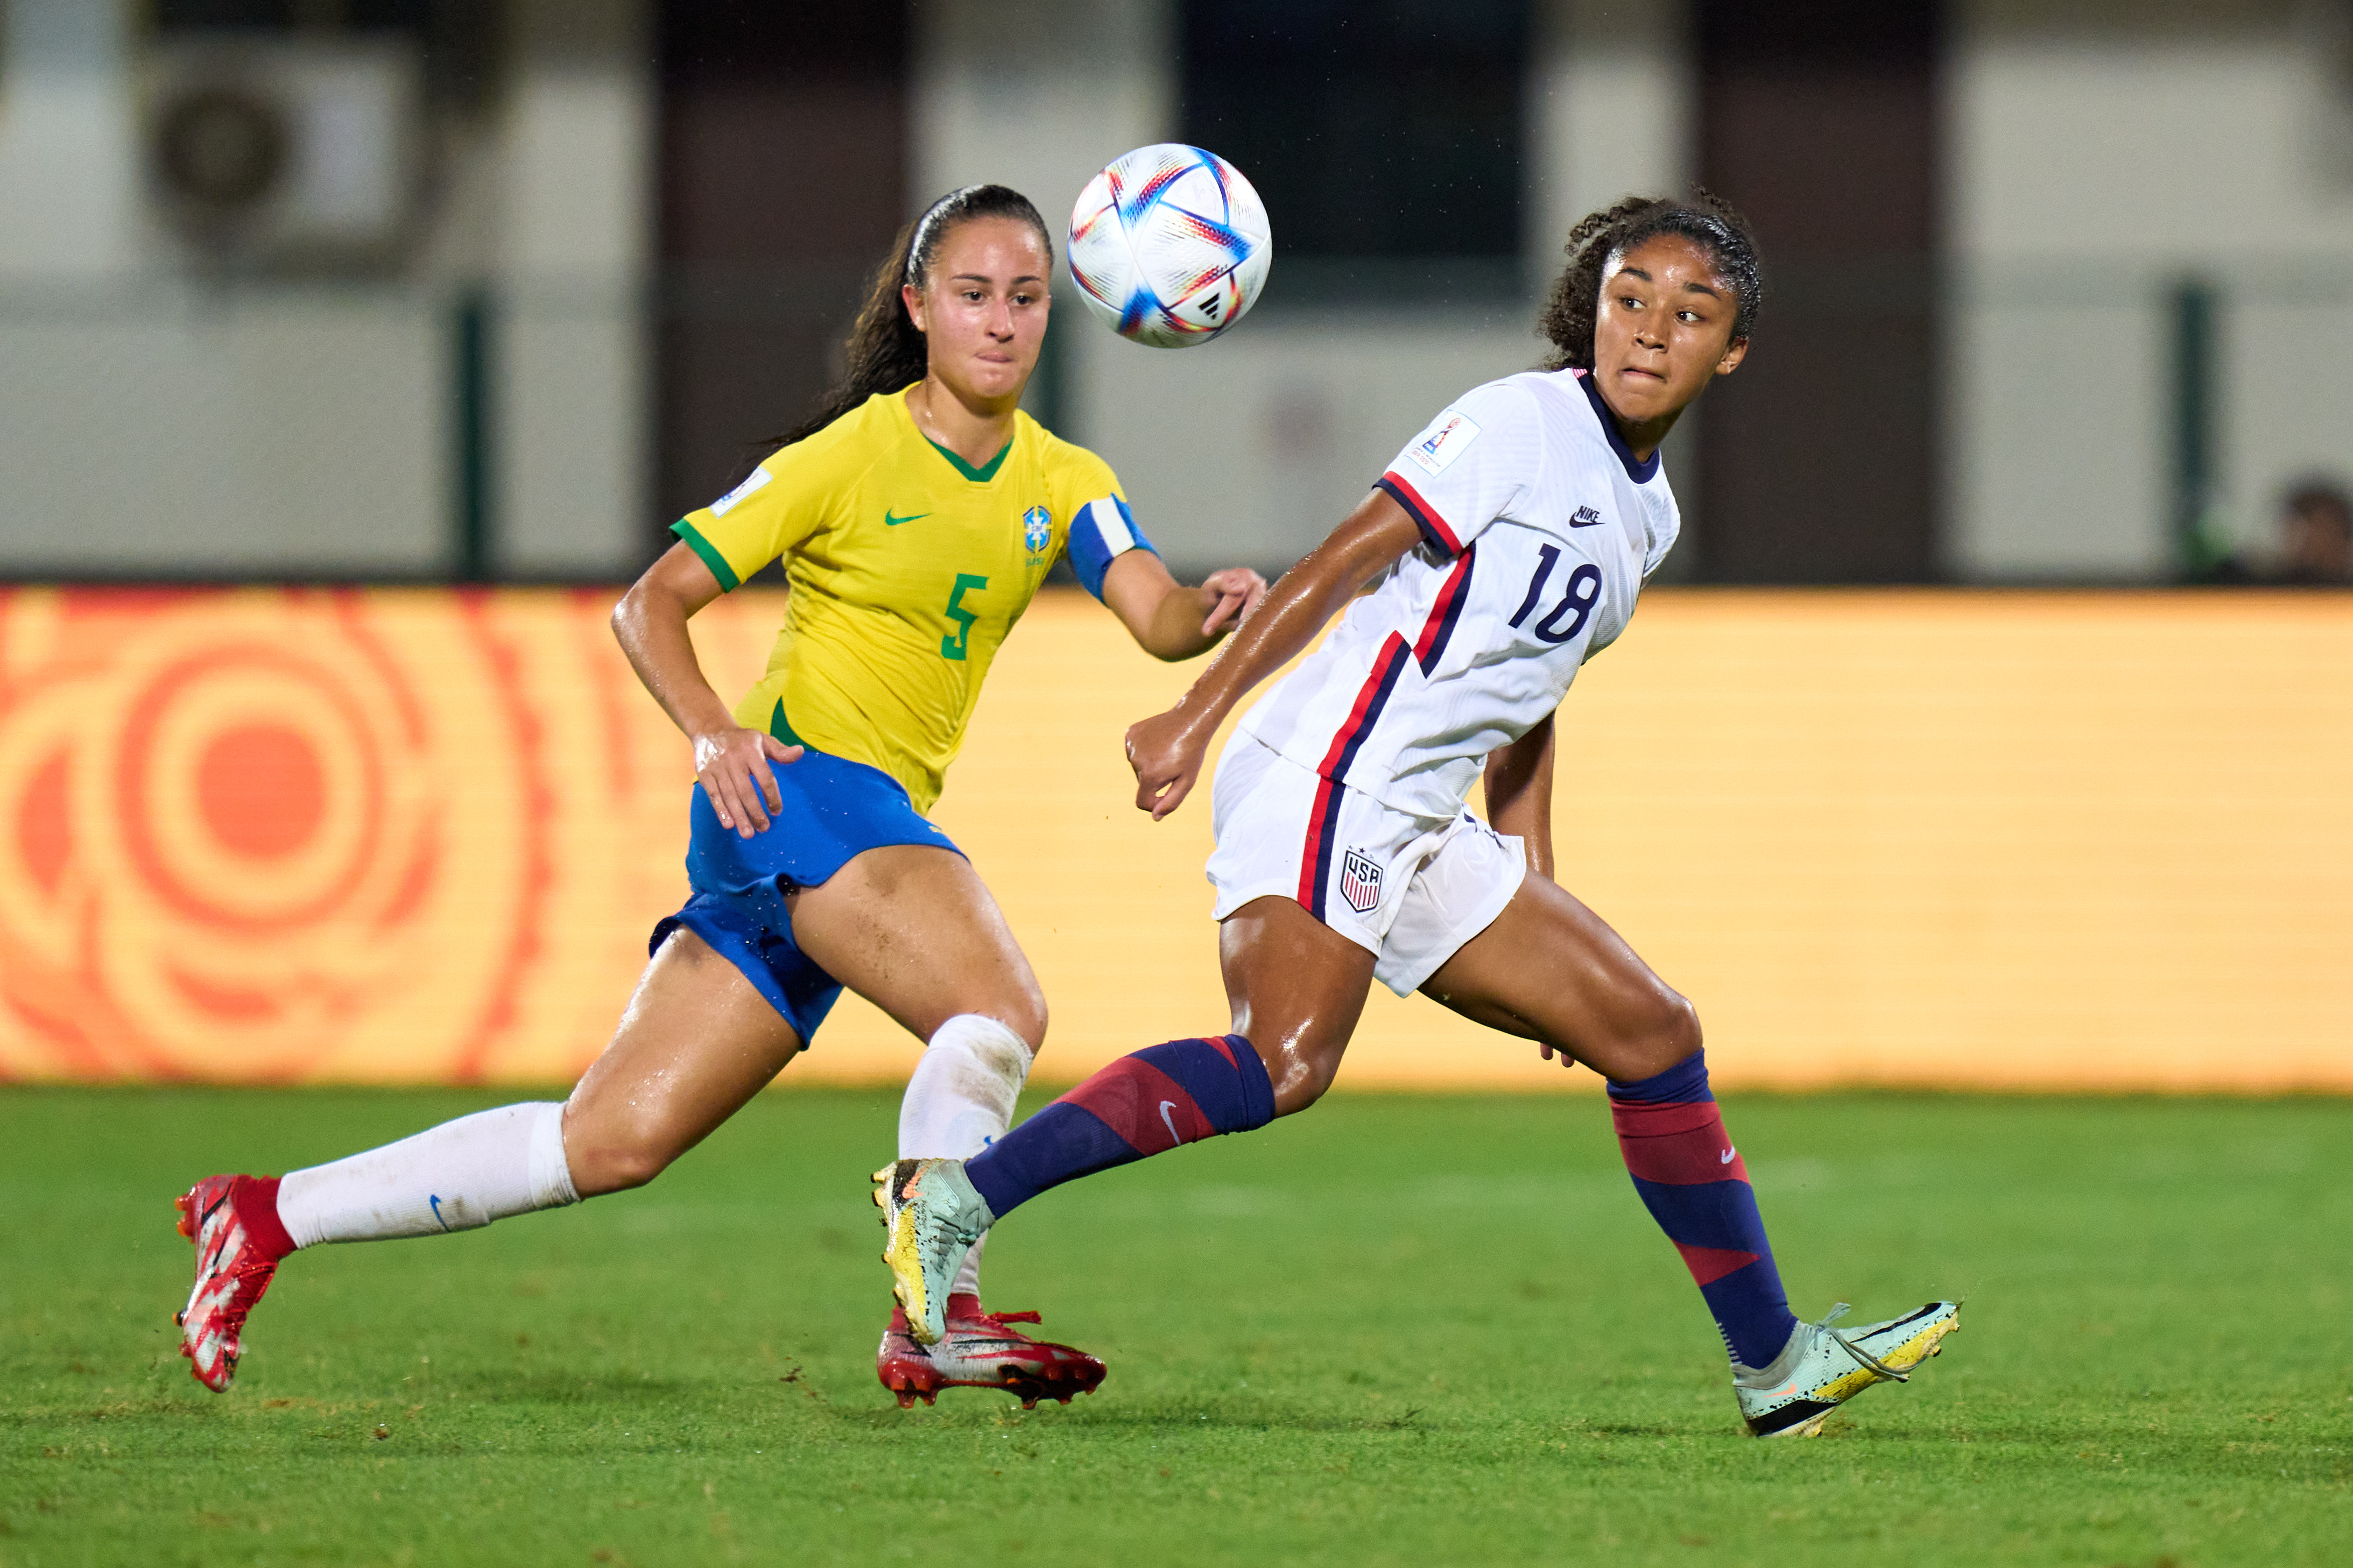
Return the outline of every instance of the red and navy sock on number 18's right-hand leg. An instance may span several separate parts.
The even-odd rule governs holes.
[[[1708,1053],[1694,1051],[1640,1084],[1612,1084],[1609,1119],[1633,1190],[1682,1253],[1732,1359],[1772,1366],[1798,1319],[1772,1265],[1748,1164],[1715,1112]]]

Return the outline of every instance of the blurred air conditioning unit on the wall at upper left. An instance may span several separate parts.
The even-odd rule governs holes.
[[[148,200],[181,256],[231,270],[400,261],[424,193],[409,40],[162,40],[141,92]]]

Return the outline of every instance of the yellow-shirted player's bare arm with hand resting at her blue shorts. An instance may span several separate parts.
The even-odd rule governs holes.
[[[784,809],[769,762],[800,762],[800,748],[736,724],[704,679],[687,618],[715,597],[720,581],[711,567],[687,545],[671,545],[612,607],[612,635],[645,689],[694,743],[694,776],[720,827],[748,839],[767,830],[769,811]]]

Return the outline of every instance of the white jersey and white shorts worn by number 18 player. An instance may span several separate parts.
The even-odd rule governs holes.
[[[1522,844],[1471,816],[1471,783],[1626,630],[1678,517],[1659,454],[1633,456],[1584,369],[1457,397],[1377,494],[1419,548],[1242,719],[1209,882],[1219,919],[1297,900],[1402,997],[1518,891]]]

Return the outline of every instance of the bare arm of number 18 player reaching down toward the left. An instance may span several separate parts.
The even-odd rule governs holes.
[[[1421,541],[1412,515],[1388,491],[1372,491],[1332,536],[1282,574],[1259,614],[1209,661],[1200,679],[1162,715],[1127,726],[1127,764],[1136,771],[1136,811],[1158,823],[1193,790],[1209,736],[1249,689],[1306,651],[1315,632],[1365,583]]]

